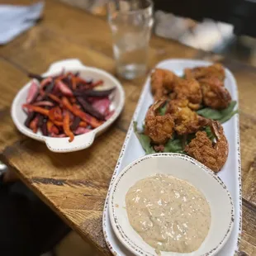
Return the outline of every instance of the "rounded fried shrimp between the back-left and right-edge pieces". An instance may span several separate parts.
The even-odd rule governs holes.
[[[202,94],[200,84],[195,79],[178,78],[174,83],[171,98],[187,99],[188,107],[197,110],[201,107]]]

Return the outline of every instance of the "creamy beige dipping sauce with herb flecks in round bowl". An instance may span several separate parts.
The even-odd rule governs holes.
[[[130,225],[159,251],[191,253],[206,238],[211,210],[196,187],[170,175],[156,174],[126,194]]]

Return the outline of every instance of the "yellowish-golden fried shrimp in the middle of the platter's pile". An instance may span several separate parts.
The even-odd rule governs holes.
[[[198,116],[195,111],[187,107],[187,100],[172,100],[169,102],[168,113],[173,116],[174,130],[178,135],[187,135],[196,132],[208,124],[208,120]]]

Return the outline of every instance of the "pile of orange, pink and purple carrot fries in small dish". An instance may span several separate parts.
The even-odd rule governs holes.
[[[72,141],[74,135],[93,130],[107,120],[109,105],[104,105],[107,111],[102,112],[102,103],[96,102],[102,97],[108,98],[115,88],[93,90],[102,80],[84,79],[79,72],[64,72],[64,69],[55,76],[32,73],[30,77],[35,80],[22,108],[27,115],[25,126],[34,132],[40,129],[45,136],[69,136]]]

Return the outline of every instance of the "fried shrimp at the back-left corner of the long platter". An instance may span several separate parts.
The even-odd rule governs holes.
[[[168,92],[173,90],[177,76],[166,69],[155,69],[151,74],[151,90],[154,94],[154,100],[168,96]]]

